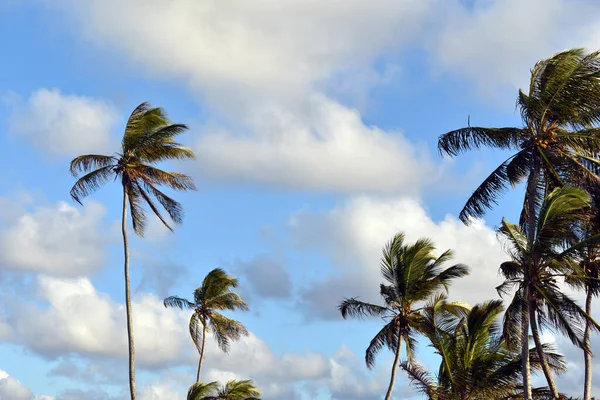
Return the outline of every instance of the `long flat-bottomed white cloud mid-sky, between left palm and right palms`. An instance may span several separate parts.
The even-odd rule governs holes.
[[[426,149],[400,132],[366,126],[356,110],[313,96],[299,115],[271,109],[249,135],[210,133],[196,152],[212,178],[294,189],[417,192],[435,177]]]

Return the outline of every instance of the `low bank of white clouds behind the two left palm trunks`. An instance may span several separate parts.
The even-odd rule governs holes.
[[[115,378],[111,371],[93,361],[101,360],[102,365],[107,362],[110,363],[108,365],[117,362],[125,365],[127,349],[123,305],[97,292],[85,278],[66,280],[39,276],[37,279],[37,297],[31,300],[32,303],[17,298],[3,302],[3,314],[7,315],[11,329],[5,339],[44,357],[62,360],[51,372],[52,376],[65,376],[90,385],[110,383],[124,386],[122,379]],[[39,302],[45,304],[41,309],[35,305]],[[165,309],[161,300],[152,295],[135,298],[133,309],[138,368],[164,371],[167,367],[180,365],[193,372],[197,354],[187,332],[189,313]],[[39,332],[44,334],[39,335]],[[383,381],[387,373],[379,371],[377,378],[366,376],[362,361],[346,348],[331,357],[311,351],[276,355],[268,344],[251,333],[236,342],[230,353],[223,356],[214,345],[213,338],[207,340],[205,377],[220,380],[251,378],[262,389],[265,399],[279,399],[281,396],[298,398],[295,385],[302,382],[317,391],[326,388],[334,392],[342,390],[346,380],[365,382],[366,387],[373,388],[376,383],[372,379]],[[73,359],[69,361],[68,355],[92,361],[82,366]],[[142,381],[141,398],[175,398],[172,397],[174,393],[184,393],[191,379],[186,374],[177,379],[163,379],[160,383]],[[12,379],[3,383],[0,378],[0,390],[2,385],[16,387]],[[106,393],[95,392],[94,387],[88,392],[65,391],[57,399],[77,396],[107,398]],[[30,395],[25,389],[23,393]],[[333,398],[348,397],[339,394],[339,397]]]

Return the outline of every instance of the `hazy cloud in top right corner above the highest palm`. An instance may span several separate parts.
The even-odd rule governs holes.
[[[488,96],[499,87],[527,90],[530,68],[557,51],[600,48],[600,41],[590,40],[598,33],[600,7],[594,2],[480,0],[467,5],[455,0],[438,5],[432,18],[440,29],[424,40],[435,72],[462,76]]]

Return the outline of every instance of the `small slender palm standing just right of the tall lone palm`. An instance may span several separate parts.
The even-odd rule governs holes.
[[[170,296],[164,300],[165,307],[194,310],[190,318],[190,335],[200,353],[197,382],[200,382],[206,334],[209,328],[217,340],[217,344],[225,353],[229,352],[230,340],[238,340],[242,336],[248,335],[244,325],[218,312],[220,310],[248,310],[248,305],[242,300],[242,297],[230,291],[230,288],[237,286],[237,279],[227,275],[221,268],[215,268],[206,275],[202,286],[194,291],[193,301],[177,296]]]

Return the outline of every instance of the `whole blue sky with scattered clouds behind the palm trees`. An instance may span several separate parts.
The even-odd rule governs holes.
[[[506,256],[494,227],[456,216],[503,154],[442,160],[437,137],[519,124],[514,99],[540,58],[600,48],[584,0],[20,0],[0,5],[0,394],[126,394],[120,194],[69,198],[70,160],[118,150],[142,101],[190,130],[198,191],[174,234],[132,239],[140,398],[183,398],[197,353],[191,296],[222,267],[239,277],[250,337],[205,380],[253,379],[265,399],[376,399],[391,356],[364,367],[375,321],[344,321],[344,296],[377,300],[379,256],[397,231],[431,237],[472,267],[451,297],[496,297]],[[533,22],[532,22],[533,21]],[[560,338],[557,338],[560,342]],[[564,391],[580,355],[565,346]],[[423,346],[418,358],[435,365]],[[8,397],[6,397],[8,396]],[[395,398],[415,392],[400,374]]]

